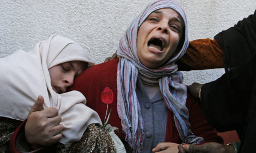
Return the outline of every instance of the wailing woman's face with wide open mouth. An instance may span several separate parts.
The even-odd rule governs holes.
[[[183,34],[184,22],[171,8],[152,12],[141,24],[137,34],[137,53],[148,68],[163,65],[176,51]]]

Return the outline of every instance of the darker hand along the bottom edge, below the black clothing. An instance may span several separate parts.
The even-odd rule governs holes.
[[[222,145],[216,142],[208,142],[203,145],[179,145],[178,149],[179,153],[235,153],[233,146]]]

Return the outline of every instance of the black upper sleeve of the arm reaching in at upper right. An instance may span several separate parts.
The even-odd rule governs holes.
[[[234,27],[214,37],[224,52],[224,67],[227,71],[246,62],[256,52],[256,10]]]

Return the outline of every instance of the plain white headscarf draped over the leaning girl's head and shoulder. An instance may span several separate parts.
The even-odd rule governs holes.
[[[85,96],[80,92],[55,93],[48,71],[74,60],[93,64],[78,43],[59,35],[39,42],[31,52],[17,50],[0,59],[0,116],[24,120],[38,95],[42,95],[43,108],[56,108],[61,115],[65,129],[60,142],[80,140],[88,125],[101,124],[99,115],[85,105]]]

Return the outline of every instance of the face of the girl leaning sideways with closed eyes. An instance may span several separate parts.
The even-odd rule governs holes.
[[[87,67],[86,62],[71,61],[55,65],[49,69],[52,89],[57,94],[66,93],[68,87],[73,85],[75,78]]]

